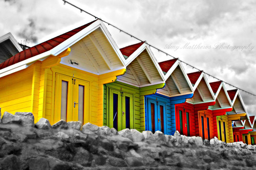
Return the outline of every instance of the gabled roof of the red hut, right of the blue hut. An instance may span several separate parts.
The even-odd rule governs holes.
[[[191,72],[187,74],[193,84],[194,96],[187,99],[187,103],[201,104],[215,102],[215,94],[212,92],[210,84],[203,71]]]

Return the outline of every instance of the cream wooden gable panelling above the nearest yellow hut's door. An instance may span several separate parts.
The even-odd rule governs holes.
[[[70,59],[77,61],[79,65],[69,64]],[[61,61],[72,67],[94,73],[109,70],[106,62],[110,63],[111,69],[123,66],[100,28],[72,45],[70,55],[63,57]]]

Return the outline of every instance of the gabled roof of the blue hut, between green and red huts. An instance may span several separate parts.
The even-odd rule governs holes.
[[[157,93],[169,97],[193,93],[193,86],[178,59],[160,62],[160,66],[165,74],[165,86],[162,89],[158,89]]]

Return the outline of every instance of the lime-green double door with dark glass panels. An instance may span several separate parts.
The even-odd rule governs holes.
[[[133,128],[133,94],[108,89],[108,126],[117,131]]]

